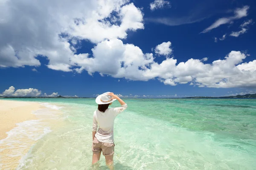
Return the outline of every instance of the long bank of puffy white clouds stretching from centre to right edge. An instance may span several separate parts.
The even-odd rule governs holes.
[[[193,83],[211,88],[256,87],[255,61],[242,63],[246,56],[240,51],[231,51],[224,59],[209,64],[203,63],[206,58],[180,63],[177,59],[166,58],[157,63],[153,54],[143,54],[139,47],[116,39],[103,41],[93,48],[93,58],[83,58],[83,69],[89,74],[100,72],[130,80],[157,78],[165,85],[173,86]],[[108,67],[110,62],[111,69]]]

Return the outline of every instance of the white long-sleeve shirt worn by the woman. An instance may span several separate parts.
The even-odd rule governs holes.
[[[108,108],[105,112],[94,111],[93,113],[93,131],[97,131],[95,137],[99,142],[114,142],[114,121],[116,116],[127,108],[127,104],[119,108]],[[97,130],[97,127],[99,129]]]

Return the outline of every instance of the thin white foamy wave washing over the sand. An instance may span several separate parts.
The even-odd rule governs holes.
[[[46,108],[32,112],[38,119],[17,123],[17,127],[7,132],[8,136],[5,139],[0,140],[0,160],[10,160],[7,163],[0,161],[0,169],[12,169],[12,164],[23,164],[33,144],[52,131],[46,120],[59,119],[60,114],[53,110],[59,110],[62,107],[49,103],[40,104]],[[20,157],[19,162],[11,161]]]

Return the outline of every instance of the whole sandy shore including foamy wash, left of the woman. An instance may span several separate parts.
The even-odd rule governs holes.
[[[60,108],[48,103],[0,100],[1,170],[23,165],[33,145],[52,131],[51,125],[62,115]]]

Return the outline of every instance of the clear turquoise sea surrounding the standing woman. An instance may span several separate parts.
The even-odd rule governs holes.
[[[93,169],[95,99],[11,100],[41,102],[61,112],[38,111],[44,122],[49,119],[44,130],[33,132],[39,124],[29,124],[30,131],[19,133],[43,135],[30,134],[36,143],[17,170]],[[124,101],[128,108],[114,125],[116,170],[256,170],[256,99]],[[104,156],[96,169],[107,170]]]

